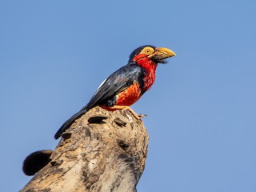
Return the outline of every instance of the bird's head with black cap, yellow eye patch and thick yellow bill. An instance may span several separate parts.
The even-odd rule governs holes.
[[[140,60],[152,61],[155,64],[166,63],[166,58],[175,56],[174,51],[164,47],[140,46],[130,54],[130,62],[139,62]]]

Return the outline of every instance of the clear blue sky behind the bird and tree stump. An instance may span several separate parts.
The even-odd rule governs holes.
[[[134,104],[150,134],[138,192],[256,191],[256,3],[236,0],[0,2],[0,191],[22,161],[131,51],[177,57]]]

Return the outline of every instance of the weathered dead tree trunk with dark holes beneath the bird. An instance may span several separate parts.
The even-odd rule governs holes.
[[[62,134],[50,162],[20,191],[134,192],[147,145],[141,120],[95,107]]]

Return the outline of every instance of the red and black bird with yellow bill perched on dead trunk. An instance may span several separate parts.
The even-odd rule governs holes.
[[[130,54],[125,66],[110,74],[98,86],[88,104],[62,124],[54,138],[58,139],[76,119],[94,106],[106,110],[130,110],[135,118],[140,118],[130,106],[154,84],[158,64],[166,63],[166,58],[173,56],[176,56],[174,51],[165,47],[139,46]]]

